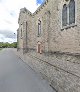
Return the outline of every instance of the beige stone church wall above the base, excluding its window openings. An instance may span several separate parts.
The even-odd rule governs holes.
[[[23,36],[22,40],[23,43],[27,41],[27,48],[36,49],[37,42],[39,41],[42,43],[44,52],[80,53],[80,0],[75,0],[75,24],[62,28],[61,15],[65,2],[67,1],[46,0],[33,14],[25,8],[21,9],[19,30],[21,30],[21,27],[23,28],[23,22],[26,21],[27,29],[25,27],[24,32],[27,30],[27,39]],[[39,19],[41,20],[40,36],[38,36]],[[23,35],[25,34],[24,32]]]

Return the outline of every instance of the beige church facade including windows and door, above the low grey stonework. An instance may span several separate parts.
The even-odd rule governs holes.
[[[19,48],[80,53],[79,0],[46,0],[33,14],[19,14]]]

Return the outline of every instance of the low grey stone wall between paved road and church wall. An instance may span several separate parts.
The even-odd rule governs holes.
[[[80,92],[80,55],[30,51],[23,59],[40,72],[56,92]]]

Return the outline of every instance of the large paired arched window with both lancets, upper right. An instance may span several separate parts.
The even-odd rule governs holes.
[[[62,9],[62,27],[75,23],[75,1],[70,0],[69,4],[63,5]]]

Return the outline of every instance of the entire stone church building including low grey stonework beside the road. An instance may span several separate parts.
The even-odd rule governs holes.
[[[80,92],[80,0],[45,0],[34,13],[22,8],[18,23],[18,52],[40,60],[30,64],[57,92]]]

